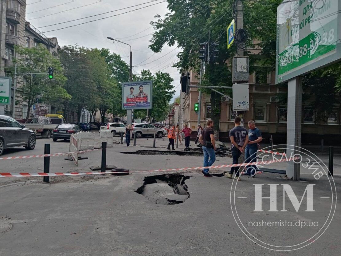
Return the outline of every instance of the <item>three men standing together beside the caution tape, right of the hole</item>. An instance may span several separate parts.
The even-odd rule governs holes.
[[[240,126],[241,119],[237,116],[234,119],[235,127],[229,131],[229,138],[231,140],[231,153],[232,153],[232,163],[237,164],[238,159],[241,154],[245,154],[245,162],[255,162],[257,158],[258,145],[257,143],[262,141],[261,131],[255,126],[255,122],[250,120],[248,122],[249,130]],[[205,129],[201,131],[199,135],[199,142],[203,145],[204,152],[204,166],[209,167],[212,166],[216,161],[216,142],[214,140],[214,130],[213,130],[213,121],[208,120],[207,126]],[[209,169],[205,168],[202,173],[205,177],[212,177],[212,175],[208,172]],[[225,173],[225,175],[233,179],[233,174],[236,173],[235,179],[240,181],[239,167],[232,167],[229,173]],[[256,166],[251,165],[246,168],[246,171],[241,175],[249,176],[249,178],[253,178],[256,176]]]

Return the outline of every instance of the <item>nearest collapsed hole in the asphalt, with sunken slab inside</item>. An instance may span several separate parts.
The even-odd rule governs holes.
[[[190,197],[185,184],[189,178],[182,174],[147,176],[143,180],[143,186],[140,186],[135,192],[157,204],[183,203]]]

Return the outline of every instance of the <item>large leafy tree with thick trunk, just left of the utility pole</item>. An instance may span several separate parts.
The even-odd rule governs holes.
[[[199,73],[199,42],[207,41],[210,31],[211,43],[219,43],[219,56],[216,63],[207,67],[203,85],[231,86],[231,72],[226,63],[234,55],[233,49],[227,50],[226,47],[226,26],[232,20],[229,15],[233,9],[231,2],[169,0],[168,9],[170,12],[164,19],[156,15],[157,21],[151,22],[156,31],[149,48],[160,52],[164,44],[177,45],[181,51],[177,55],[178,62],[173,66],[182,71],[191,69]],[[203,91],[211,96],[211,119],[214,129],[219,131],[221,95],[209,89]],[[231,95],[230,90],[221,92]]]

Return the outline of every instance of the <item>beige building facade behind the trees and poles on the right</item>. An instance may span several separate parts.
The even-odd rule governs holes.
[[[190,72],[190,85],[197,85],[197,74]],[[260,83],[257,74],[249,76],[249,111],[233,111],[233,102],[221,102],[220,137],[229,141],[228,132],[234,127],[234,118],[243,114],[244,126],[249,120],[254,120],[256,126],[262,131],[263,138],[272,136],[275,143],[286,143],[287,130],[287,104],[278,101],[279,94],[286,94],[287,86],[275,85],[275,72],[268,74],[267,83]],[[183,108],[183,124],[189,125],[192,130],[196,128],[198,114],[194,111],[194,104],[198,102],[199,92],[197,88],[190,88],[188,94],[184,94],[180,109]],[[316,96],[318,97],[318,96]],[[182,97],[181,97],[182,99]],[[324,121],[315,123],[316,111],[312,109],[310,102],[302,104],[302,143],[320,144],[322,140],[327,145],[341,143],[341,107],[334,104],[334,111],[326,115]],[[203,127],[211,118],[210,95],[202,94],[200,122]],[[312,134],[314,139],[312,140]]]

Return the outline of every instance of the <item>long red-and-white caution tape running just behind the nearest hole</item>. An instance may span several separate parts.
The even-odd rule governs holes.
[[[176,169],[159,169],[159,170],[149,170],[149,171],[130,171],[133,173],[137,172],[168,172],[168,171],[188,171],[188,170],[202,170],[202,169],[217,169],[217,168],[229,168],[229,167],[240,167],[240,166],[250,166],[250,165],[269,165],[270,163],[286,162],[297,160],[299,157],[290,157],[289,159],[281,158],[277,160],[261,161],[261,162],[251,162],[251,163],[237,163],[232,165],[216,165],[207,167],[189,167],[189,168],[176,168]],[[42,176],[76,176],[76,175],[94,175],[94,174],[112,174],[112,173],[128,173],[128,172],[56,172],[56,173],[0,173],[1,177],[42,177]]]

